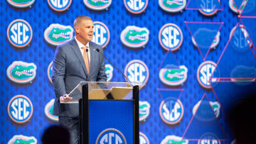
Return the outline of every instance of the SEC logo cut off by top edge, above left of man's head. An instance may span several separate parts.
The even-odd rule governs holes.
[[[54,11],[65,11],[67,10],[72,0],[47,0],[51,9]]]

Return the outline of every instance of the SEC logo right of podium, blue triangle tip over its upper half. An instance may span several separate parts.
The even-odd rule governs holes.
[[[161,102],[159,106],[161,120],[169,125],[174,125],[183,118],[183,104],[179,99],[169,97]]]

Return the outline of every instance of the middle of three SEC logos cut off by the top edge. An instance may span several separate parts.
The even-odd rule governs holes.
[[[124,6],[125,8],[130,12],[134,14],[139,14],[145,11],[147,4],[149,3],[149,0],[124,0]]]

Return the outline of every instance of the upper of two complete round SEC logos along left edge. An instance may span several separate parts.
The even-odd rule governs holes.
[[[26,47],[31,43],[32,37],[32,28],[25,20],[16,19],[9,24],[7,38],[16,48]]]

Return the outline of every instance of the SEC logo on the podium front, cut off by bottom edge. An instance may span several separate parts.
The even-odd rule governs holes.
[[[107,128],[97,136],[96,144],[127,144],[124,135],[115,128]]]

